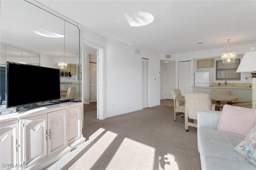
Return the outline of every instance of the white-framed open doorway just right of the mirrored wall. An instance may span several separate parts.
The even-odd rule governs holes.
[[[97,119],[105,119],[104,115],[104,58],[103,48],[90,42],[82,43],[82,99],[85,104],[96,102]]]

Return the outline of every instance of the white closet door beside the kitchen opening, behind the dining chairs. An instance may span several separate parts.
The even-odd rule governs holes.
[[[178,88],[182,96],[186,92],[191,92],[191,61],[178,63]]]

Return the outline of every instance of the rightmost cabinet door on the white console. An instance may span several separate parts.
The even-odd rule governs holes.
[[[80,105],[68,108],[68,143],[80,138],[81,111]]]

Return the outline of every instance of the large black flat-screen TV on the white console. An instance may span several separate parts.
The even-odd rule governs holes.
[[[6,108],[60,99],[60,70],[7,62]]]

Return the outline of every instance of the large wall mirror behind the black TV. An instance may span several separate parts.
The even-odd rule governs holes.
[[[40,8],[39,8],[40,7]],[[7,61],[59,68],[60,90],[76,87],[74,100],[81,100],[81,25],[36,1],[0,2],[1,95]],[[19,73],[21,74],[21,73]],[[22,73],[26,74],[26,73]],[[50,88],[48,76],[45,88]],[[26,82],[23,82],[26,83]],[[38,89],[40,91],[40,89]],[[60,93],[61,93],[60,92]]]

